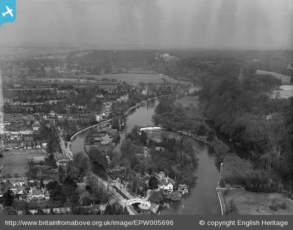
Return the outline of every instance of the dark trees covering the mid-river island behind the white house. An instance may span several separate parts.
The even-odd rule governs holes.
[[[144,147],[148,147],[146,152]],[[110,168],[120,165],[141,175],[164,171],[178,183],[187,185],[196,181],[197,149],[186,139],[164,137],[157,143],[143,131],[139,134],[135,126],[122,141],[120,150],[120,153],[113,152]]]

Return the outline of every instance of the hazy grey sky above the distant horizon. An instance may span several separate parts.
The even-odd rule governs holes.
[[[12,43],[293,48],[293,0],[16,0]]]

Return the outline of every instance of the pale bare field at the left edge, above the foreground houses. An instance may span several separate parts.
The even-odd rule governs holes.
[[[45,149],[10,149],[4,152],[3,177],[25,177],[27,160],[31,157],[43,157],[46,154]]]

